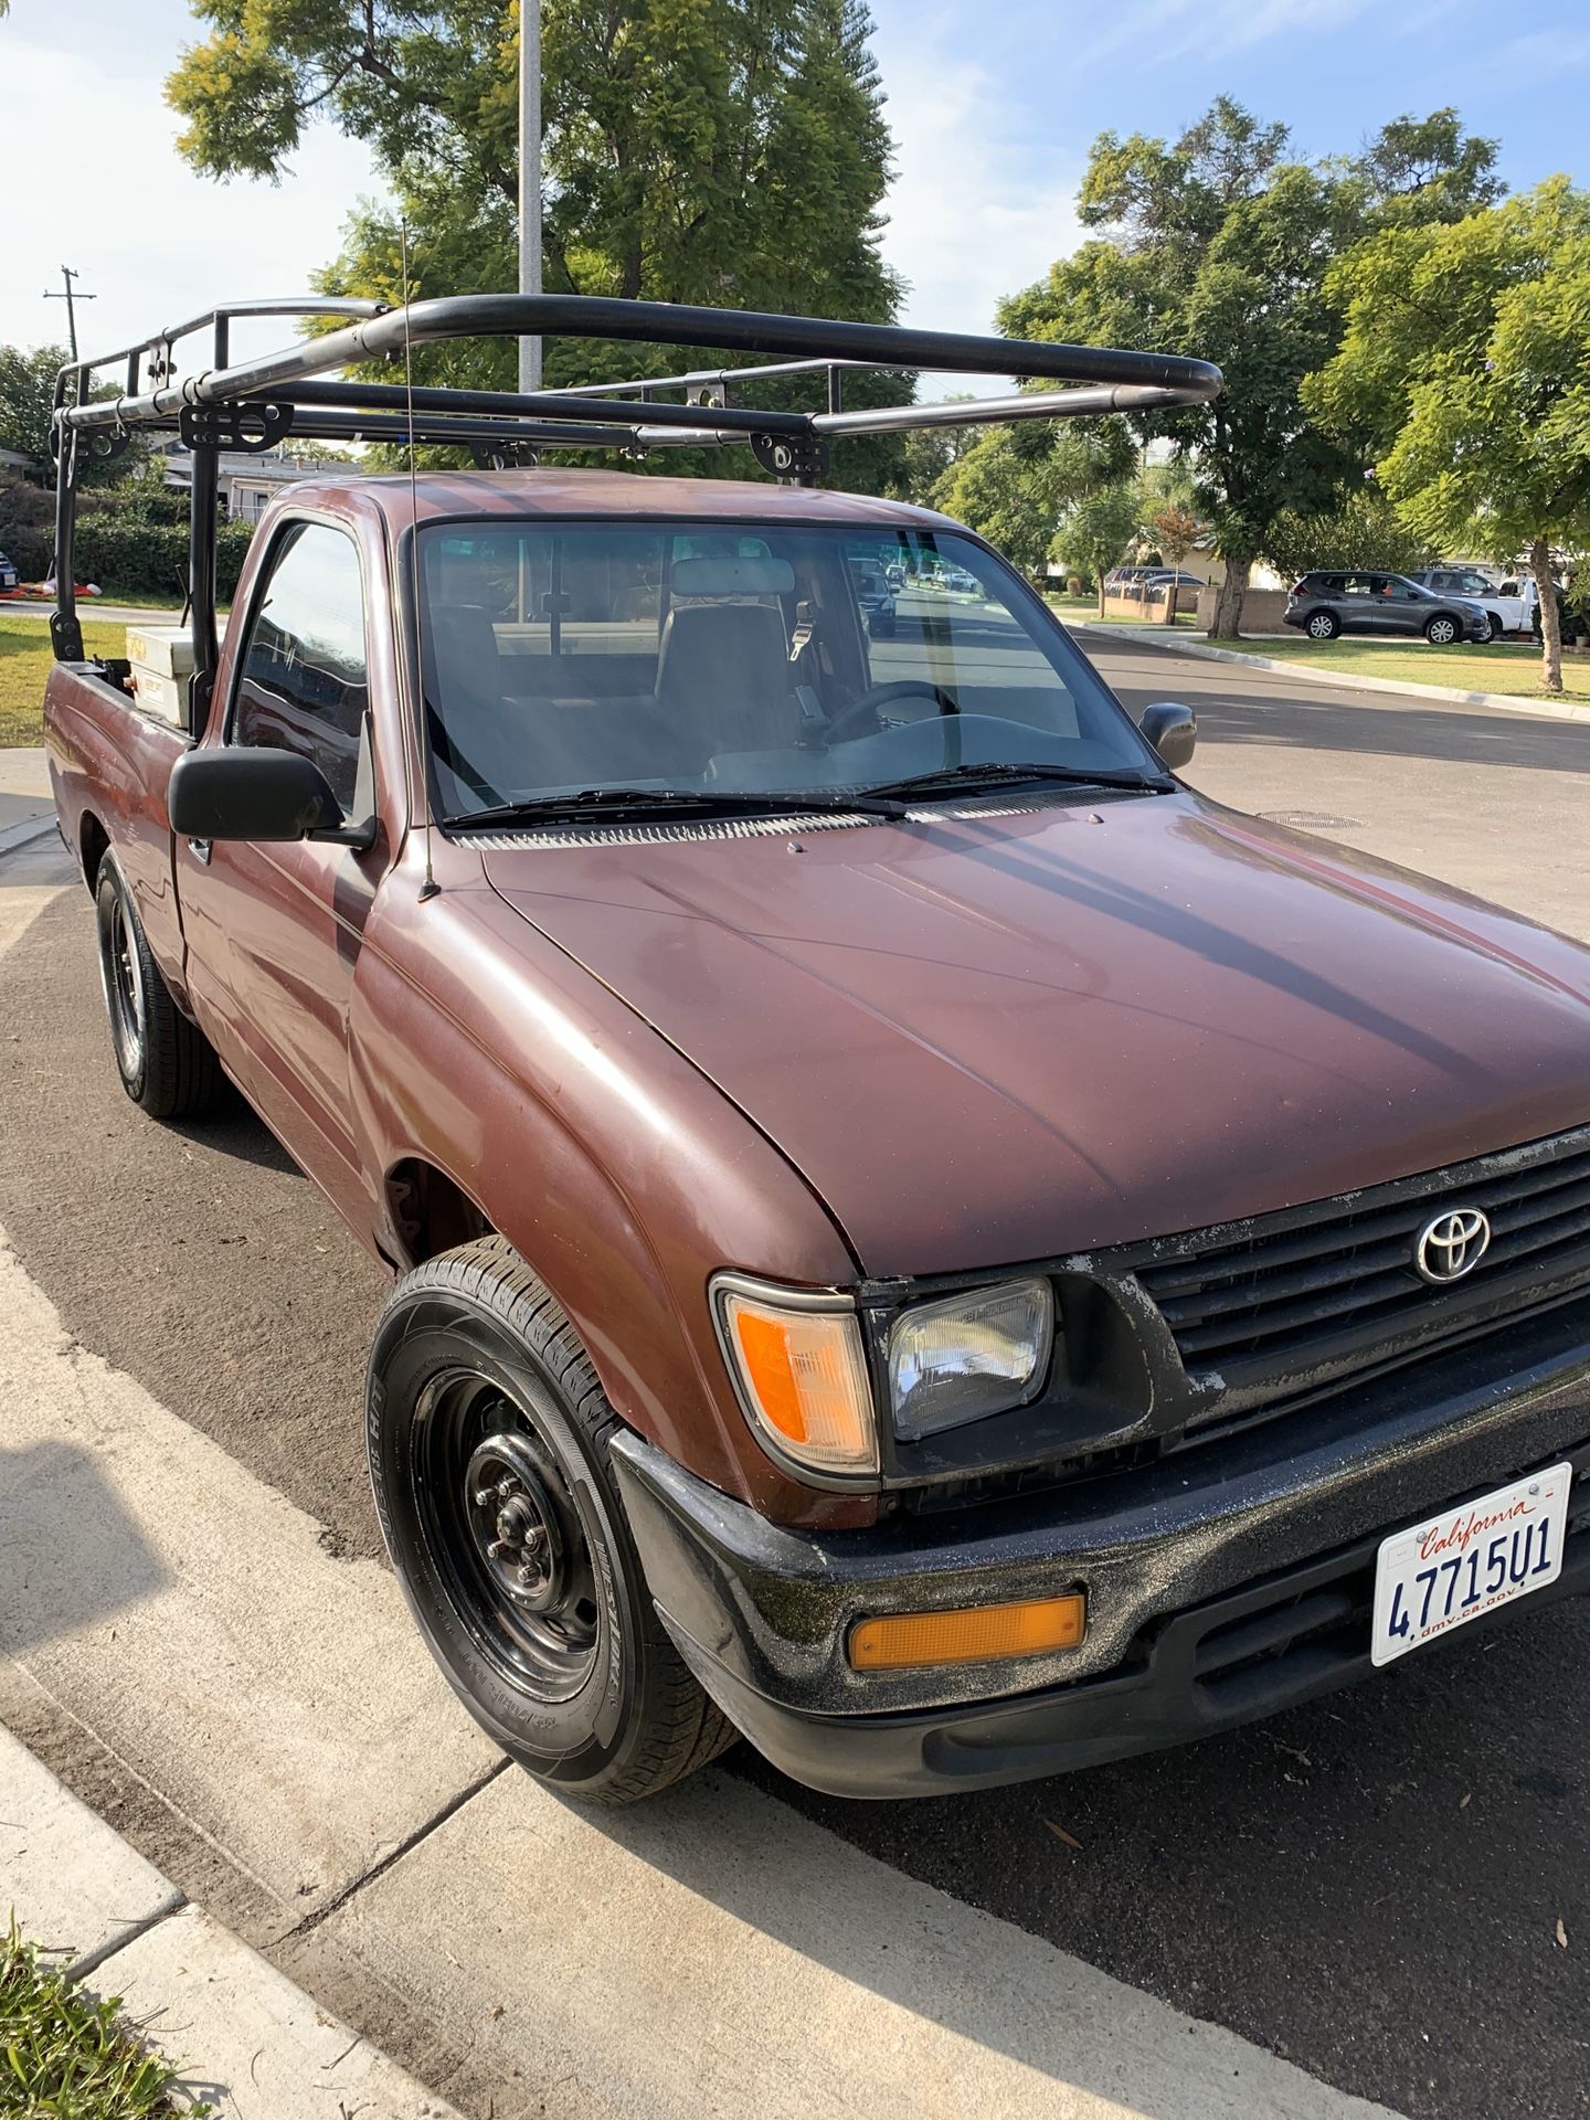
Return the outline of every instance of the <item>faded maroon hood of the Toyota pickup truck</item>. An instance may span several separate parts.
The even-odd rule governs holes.
[[[485,871],[876,1276],[1194,1230],[1590,1119],[1590,952],[1189,793],[502,844]]]

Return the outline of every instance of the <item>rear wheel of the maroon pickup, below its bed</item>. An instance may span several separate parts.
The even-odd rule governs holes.
[[[114,854],[100,863],[93,909],[121,1088],[151,1119],[214,1111],[227,1096],[227,1077],[206,1035],[172,1001]]]

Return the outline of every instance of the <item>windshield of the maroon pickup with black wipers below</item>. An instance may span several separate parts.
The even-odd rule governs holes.
[[[948,532],[432,524],[420,581],[454,823],[604,787],[710,803],[979,763],[1160,772],[1043,606]]]

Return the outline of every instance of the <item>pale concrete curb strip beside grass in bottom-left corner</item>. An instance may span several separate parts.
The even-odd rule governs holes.
[[[117,1995],[223,2120],[460,2120],[445,2099],[333,2018],[240,1942],[0,1728],[0,1893],[64,1957],[68,1980]],[[170,2027],[170,2033],[167,2029]],[[244,2092],[240,2101],[235,2090]]]

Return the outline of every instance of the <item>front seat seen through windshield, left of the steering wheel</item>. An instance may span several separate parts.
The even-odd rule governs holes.
[[[772,604],[676,604],[657,653],[657,700],[697,763],[782,750],[799,736],[782,613]]]

